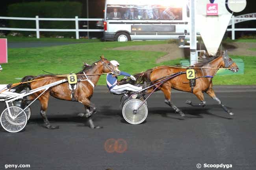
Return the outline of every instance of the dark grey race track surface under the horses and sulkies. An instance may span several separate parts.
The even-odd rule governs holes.
[[[47,130],[42,127],[37,102],[23,132],[8,133],[0,128],[0,169],[6,164],[30,164],[31,170],[196,170],[198,163],[223,163],[232,164],[232,170],[255,170],[256,86],[214,89],[234,116],[206,95],[206,107],[193,108],[185,101],[198,102],[195,96],[174,91],[174,104],[186,114],[180,117],[157,92],[148,100],[146,122],[131,125],[119,115],[121,96],[97,87],[92,99],[98,108],[94,122],[103,129],[90,129],[86,119],[76,116],[84,111],[82,104],[52,98],[48,117],[60,129]],[[1,103],[1,112],[3,108]],[[124,139],[127,150],[106,152],[104,143],[111,138]]]

